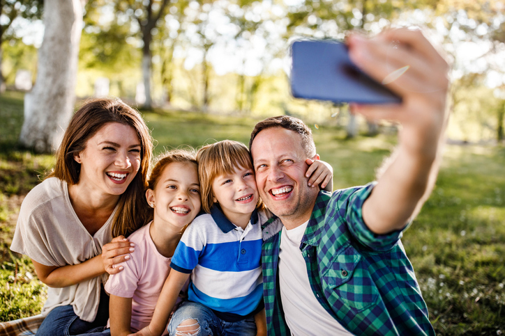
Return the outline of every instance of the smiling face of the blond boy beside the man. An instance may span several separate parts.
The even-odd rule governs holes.
[[[259,197],[252,168],[236,167],[234,172],[216,177],[212,191],[214,202],[229,221],[246,227]]]

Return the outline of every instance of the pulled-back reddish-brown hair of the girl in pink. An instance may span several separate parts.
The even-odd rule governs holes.
[[[198,169],[197,154],[193,147],[187,146],[184,148],[177,148],[176,150],[169,150],[158,155],[154,160],[153,169],[149,174],[149,181],[147,182],[147,189],[154,190],[165,167],[174,162],[194,164],[195,168]],[[148,221],[152,221],[154,211],[152,208],[149,209]]]

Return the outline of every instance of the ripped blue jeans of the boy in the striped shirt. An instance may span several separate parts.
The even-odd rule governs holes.
[[[192,336],[256,335],[256,323],[254,317],[248,317],[237,322],[223,321],[219,317],[216,317],[216,314],[214,314],[209,307],[191,301],[184,301],[174,312],[172,319],[170,319],[170,323],[168,323],[169,334],[171,336],[179,336],[176,329],[179,324],[187,319],[197,320],[200,327],[199,332],[191,334]],[[195,330],[197,328],[195,328]]]

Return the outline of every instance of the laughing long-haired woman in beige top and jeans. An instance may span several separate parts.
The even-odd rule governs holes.
[[[120,99],[95,99],[73,116],[54,171],[21,205],[10,247],[28,255],[50,287],[37,335],[79,335],[107,323],[105,271],[119,271],[112,265],[133,250],[122,235],[146,223],[151,151],[144,120]],[[113,236],[120,237],[109,243]]]

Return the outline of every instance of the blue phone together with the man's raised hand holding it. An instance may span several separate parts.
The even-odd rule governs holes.
[[[405,141],[417,150],[440,138],[449,66],[420,30],[389,29],[373,38],[352,33],[345,44],[301,40],[291,52],[294,97],[348,102],[368,120],[400,122],[409,129],[400,141],[408,133],[413,138]]]

